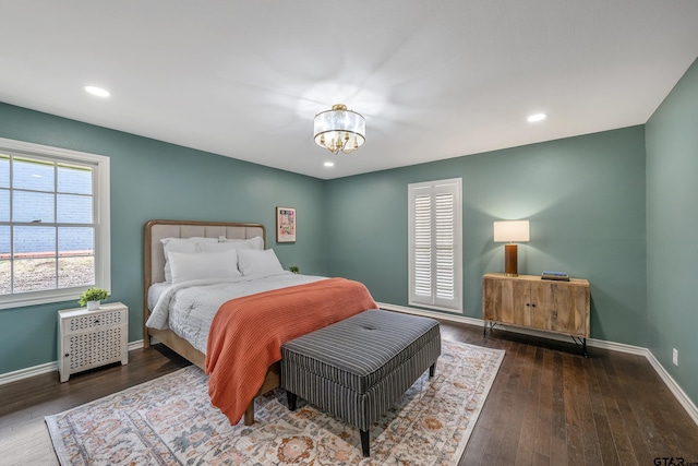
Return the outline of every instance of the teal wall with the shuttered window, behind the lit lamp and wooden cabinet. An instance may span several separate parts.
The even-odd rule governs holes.
[[[504,272],[492,223],[530,220],[519,274],[561,270],[591,284],[591,336],[647,342],[643,127],[333,180],[325,227],[332,275],[407,306],[407,186],[462,178],[464,314],[481,318],[481,279]]]

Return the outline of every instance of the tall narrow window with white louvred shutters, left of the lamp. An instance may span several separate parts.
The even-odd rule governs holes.
[[[409,303],[462,312],[461,179],[408,186]]]

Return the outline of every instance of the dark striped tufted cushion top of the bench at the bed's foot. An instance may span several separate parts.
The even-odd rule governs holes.
[[[281,360],[363,394],[438,336],[433,319],[375,309],[285,343]]]

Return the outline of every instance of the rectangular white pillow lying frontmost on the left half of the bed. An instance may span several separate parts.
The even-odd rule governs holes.
[[[195,253],[170,252],[169,262],[172,283],[205,278],[228,279],[240,276],[238,252],[234,250]]]

